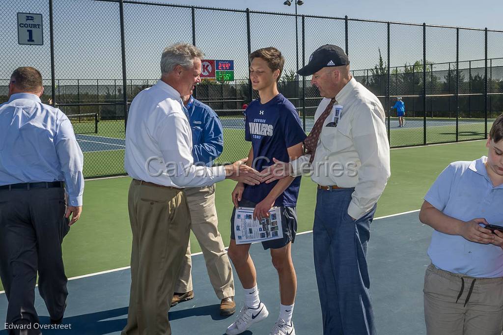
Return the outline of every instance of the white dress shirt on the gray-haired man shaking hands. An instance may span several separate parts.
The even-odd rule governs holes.
[[[131,103],[124,167],[131,178],[171,187],[208,186],[225,179],[223,166],[194,165],[192,133],[180,93],[162,80]]]

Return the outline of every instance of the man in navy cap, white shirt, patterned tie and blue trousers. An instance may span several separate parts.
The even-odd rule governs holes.
[[[289,163],[275,159],[266,183],[311,174],[318,184],[313,244],[323,333],[375,334],[366,255],[390,176],[384,109],[336,45],[316,49],[297,73],[312,75],[323,100],[304,140],[306,154]]]

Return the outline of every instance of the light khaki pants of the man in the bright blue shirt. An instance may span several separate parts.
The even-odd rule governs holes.
[[[189,204],[192,226],[204,260],[211,285],[218,299],[234,296],[234,279],[222,236],[218,231],[218,218],[215,208],[215,185],[184,189]],[[180,278],[175,284],[175,292],[192,290],[192,259],[190,242],[187,247]]]

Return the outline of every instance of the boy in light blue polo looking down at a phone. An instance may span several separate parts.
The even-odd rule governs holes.
[[[497,334],[503,326],[503,115],[488,155],[456,161],[425,196],[419,218],[435,230],[424,286],[428,335]]]

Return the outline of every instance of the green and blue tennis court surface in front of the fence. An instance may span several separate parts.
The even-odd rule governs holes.
[[[94,136],[93,133],[88,134]],[[418,222],[423,196],[438,174],[455,160],[473,160],[487,154],[485,141],[433,145],[391,150],[392,175],[379,200],[377,216],[371,225],[368,263],[371,294],[378,333],[390,335],[425,333],[423,279],[429,264],[426,251],[432,229]],[[113,151],[120,152],[120,151]],[[63,242],[68,277],[68,308],[64,323],[71,330],[50,330],[44,334],[118,334],[126,322],[129,304],[131,229],[127,211],[129,178],[86,181],[82,217]],[[229,241],[230,193],[235,183],[217,184],[216,207],[219,230]],[[303,178],[299,193],[299,218],[292,255],[298,277],[294,323],[299,334],[321,333],[321,314],[312,254],[315,184]],[[408,212],[408,213],[407,213]],[[389,216],[396,213],[399,215]],[[191,236],[193,253],[200,252]],[[260,245],[251,247],[258,270],[261,299],[270,310],[268,319],[245,334],[268,333],[279,313],[278,276],[269,253]],[[119,271],[111,269],[122,268]],[[105,271],[103,274],[96,274]],[[235,273],[235,272],[234,272]],[[91,274],[91,275],[88,275]],[[80,277],[79,277],[80,276]],[[83,276],[83,277],[82,277]],[[236,303],[242,303],[242,287],[234,276]],[[202,255],[193,257],[195,299],[170,310],[174,334],[223,334],[235,316],[219,315],[219,300],[213,292]],[[3,290],[0,286],[0,291]],[[36,290],[36,308],[41,322],[48,313]],[[7,299],[0,293],[0,334],[4,335]]]

